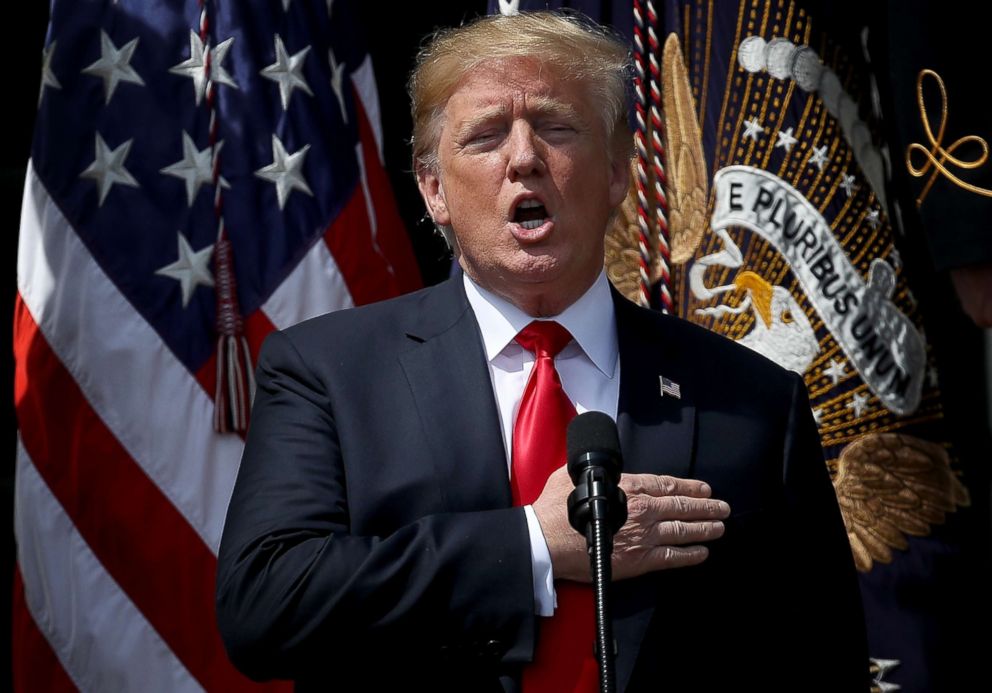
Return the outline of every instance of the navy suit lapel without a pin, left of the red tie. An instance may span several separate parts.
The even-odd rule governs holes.
[[[499,414],[461,280],[425,292],[400,363],[449,512],[511,505]]]

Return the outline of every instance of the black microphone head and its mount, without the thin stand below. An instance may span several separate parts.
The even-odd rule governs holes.
[[[611,537],[627,521],[627,496],[617,486],[623,468],[620,437],[613,419],[598,411],[572,419],[565,436],[568,475],[575,484],[568,497],[568,521],[591,547],[594,516],[607,520]]]

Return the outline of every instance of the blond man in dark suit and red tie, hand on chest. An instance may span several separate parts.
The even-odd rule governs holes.
[[[595,690],[585,626],[554,625],[588,581],[571,484],[521,466],[560,437],[542,418],[557,397],[620,431],[621,690],[866,689],[802,380],[606,282],[628,67],[600,28],[548,14],[422,53],[415,167],[464,278],[267,340],[218,574],[221,633],[250,676]],[[546,349],[532,331],[564,337]],[[562,652],[576,666],[549,669]]]

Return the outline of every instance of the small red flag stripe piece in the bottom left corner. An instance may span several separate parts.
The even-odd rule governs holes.
[[[11,614],[11,657],[14,693],[76,693],[48,640],[38,630],[24,599],[21,571],[14,569]]]

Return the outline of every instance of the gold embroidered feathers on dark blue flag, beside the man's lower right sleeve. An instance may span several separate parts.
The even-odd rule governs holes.
[[[940,445],[899,433],[869,433],[844,448],[834,489],[858,570],[892,561],[906,535],[927,536],[946,513],[970,503]]]

